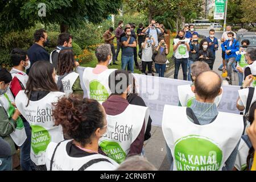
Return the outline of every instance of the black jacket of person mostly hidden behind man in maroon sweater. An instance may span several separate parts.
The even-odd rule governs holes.
[[[145,102],[143,101],[143,99],[141,97],[139,97],[137,94],[135,93],[131,93],[128,97],[127,97],[127,101],[129,102],[129,104],[133,104],[133,105],[137,105],[137,106],[144,106],[146,107]],[[144,141],[150,139],[151,137],[151,123],[152,123],[152,119],[150,117],[148,117],[148,122],[147,122],[147,128],[146,128],[146,133],[144,135]]]

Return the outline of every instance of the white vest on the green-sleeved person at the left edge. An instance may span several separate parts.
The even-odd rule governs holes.
[[[15,107],[11,104],[7,94],[3,94],[0,96],[0,106],[5,109],[9,119],[13,117]],[[16,129],[13,131],[13,133],[10,134],[10,137],[13,139],[14,143],[20,147],[27,139],[27,134],[24,128],[23,121],[20,117],[16,119],[16,124]]]

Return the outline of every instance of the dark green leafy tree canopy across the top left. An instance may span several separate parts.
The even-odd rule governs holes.
[[[38,4],[46,4],[46,16],[38,15]],[[0,31],[23,30],[36,22],[60,24],[61,32],[79,27],[84,21],[100,23],[118,14],[119,0],[3,0],[0,1]]]

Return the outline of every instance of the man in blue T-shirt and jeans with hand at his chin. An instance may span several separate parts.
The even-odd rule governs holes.
[[[128,65],[128,71],[134,72],[133,61],[134,61],[134,47],[137,47],[136,40],[131,36],[131,28],[125,28],[125,36],[121,38],[122,43],[122,69],[126,69]]]

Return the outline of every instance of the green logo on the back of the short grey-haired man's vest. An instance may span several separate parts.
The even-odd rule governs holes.
[[[99,81],[93,80],[90,82],[90,98],[97,101],[106,101],[109,97],[108,90]]]

